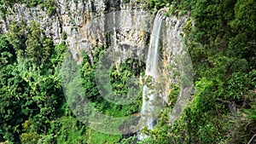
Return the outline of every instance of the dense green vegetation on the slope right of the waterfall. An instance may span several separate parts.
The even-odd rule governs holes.
[[[160,9],[158,2],[151,1],[150,7]],[[183,36],[194,64],[196,92],[172,126],[169,110],[163,112],[148,143],[247,143],[256,134],[256,3],[172,3],[176,7],[167,14],[190,14]]]

